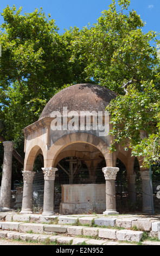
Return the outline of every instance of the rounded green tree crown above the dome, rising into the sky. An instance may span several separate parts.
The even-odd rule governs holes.
[[[129,2],[119,1],[119,4],[126,9]],[[79,54],[80,61],[86,62],[88,78],[114,92],[123,93],[121,87],[130,80],[135,80],[139,88],[142,79],[152,79],[157,63],[157,48],[150,45],[151,40],[156,40],[156,33],[145,34],[143,27],[136,11],[121,14],[112,1],[97,23],[79,32],[73,42],[73,56]]]

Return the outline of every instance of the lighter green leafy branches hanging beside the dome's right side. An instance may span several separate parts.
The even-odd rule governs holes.
[[[114,143],[132,148],[133,155],[144,157],[145,166],[157,163],[160,156],[160,93],[155,84],[145,82],[141,91],[129,86],[127,94],[118,96],[107,109],[111,114]]]

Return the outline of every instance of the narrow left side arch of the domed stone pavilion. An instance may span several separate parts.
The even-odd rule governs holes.
[[[37,155],[42,154],[44,159],[44,167],[46,167],[47,145],[40,138],[36,138],[30,142],[27,147],[24,159],[24,170],[33,171],[34,161]]]

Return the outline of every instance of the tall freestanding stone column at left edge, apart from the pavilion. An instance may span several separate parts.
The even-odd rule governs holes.
[[[12,174],[12,151],[14,142],[4,141],[4,159],[1,183],[1,210],[10,209],[11,197],[11,174]]]

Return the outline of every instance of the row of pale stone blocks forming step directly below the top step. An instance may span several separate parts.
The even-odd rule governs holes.
[[[120,240],[139,242],[143,237],[143,231],[118,230],[110,228],[93,228],[86,226],[60,225],[60,224],[42,224],[42,223],[23,223],[23,222],[0,222],[0,229],[13,230],[22,233],[32,232],[38,234],[59,233],[69,236],[95,236],[99,239]]]

